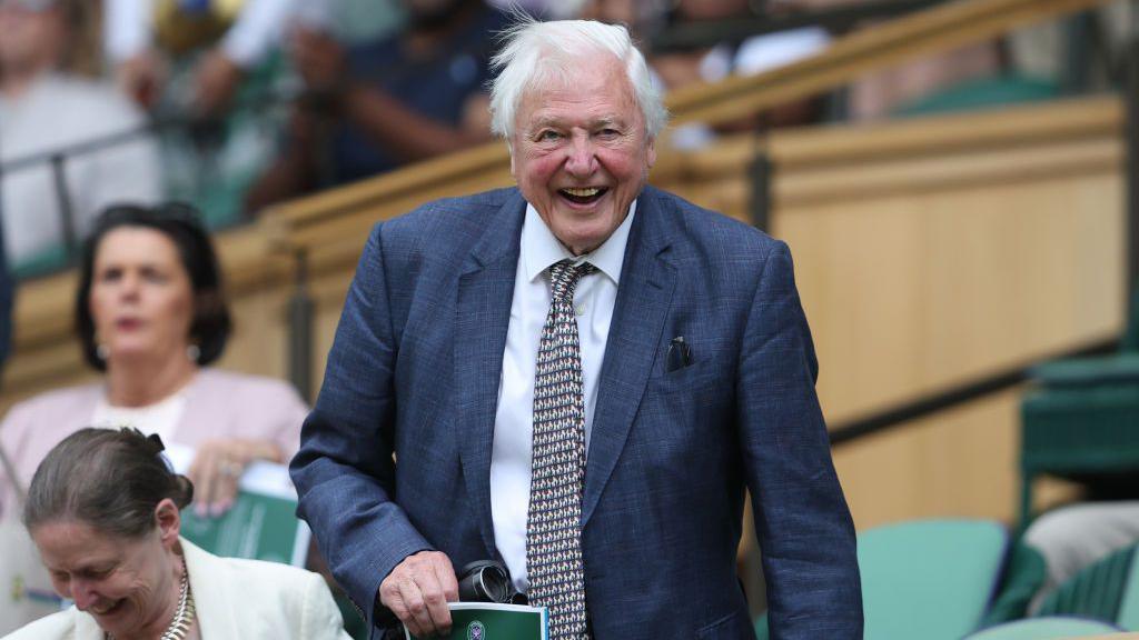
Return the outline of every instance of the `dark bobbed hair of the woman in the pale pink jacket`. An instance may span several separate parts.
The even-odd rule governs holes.
[[[187,204],[166,203],[154,207],[107,207],[96,219],[91,235],[83,241],[79,290],[75,293],[75,331],[83,345],[87,363],[99,371],[107,369],[107,363],[99,359],[99,345],[95,338],[91,280],[95,277],[95,255],[99,251],[99,243],[107,233],[123,227],[158,231],[178,247],[182,268],[194,289],[194,320],[190,322],[189,340],[199,350],[198,364],[206,366],[218,360],[226,348],[231,328],[229,309],[222,295],[218,255],[197,210]]]

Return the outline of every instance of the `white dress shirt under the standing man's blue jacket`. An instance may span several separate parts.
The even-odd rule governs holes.
[[[636,200],[624,222],[592,253],[574,259],[538,215],[526,206],[522,247],[514,279],[510,325],[502,353],[494,449],[491,456],[491,516],[494,544],[506,560],[514,585],[526,591],[526,514],[530,509],[531,442],[534,430],[534,369],[542,327],[550,309],[549,266],[562,260],[588,262],[597,272],[582,277],[574,290],[577,335],[581,342],[582,392],[585,396],[585,451],[589,451],[597,378],[605,358],[613,305],[617,300],[621,265]]]

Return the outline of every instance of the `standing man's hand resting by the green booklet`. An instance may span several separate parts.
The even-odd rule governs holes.
[[[450,633],[446,604],[459,599],[451,559],[440,551],[408,556],[379,584],[377,598],[417,638]]]

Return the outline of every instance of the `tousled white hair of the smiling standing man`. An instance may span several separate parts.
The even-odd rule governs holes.
[[[655,138],[667,123],[669,112],[661,91],[625,27],[593,20],[538,22],[518,16],[518,22],[502,32],[501,38],[502,49],[491,59],[491,68],[498,72],[491,84],[491,131],[507,141],[514,134],[514,121],[525,92],[555,79],[566,81],[573,66],[590,54],[611,54],[624,64],[649,138]]]

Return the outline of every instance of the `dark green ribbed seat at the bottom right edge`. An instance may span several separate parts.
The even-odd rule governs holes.
[[[1139,555],[1129,547],[1084,568],[1040,606],[1039,615],[1080,616],[1139,631]]]

